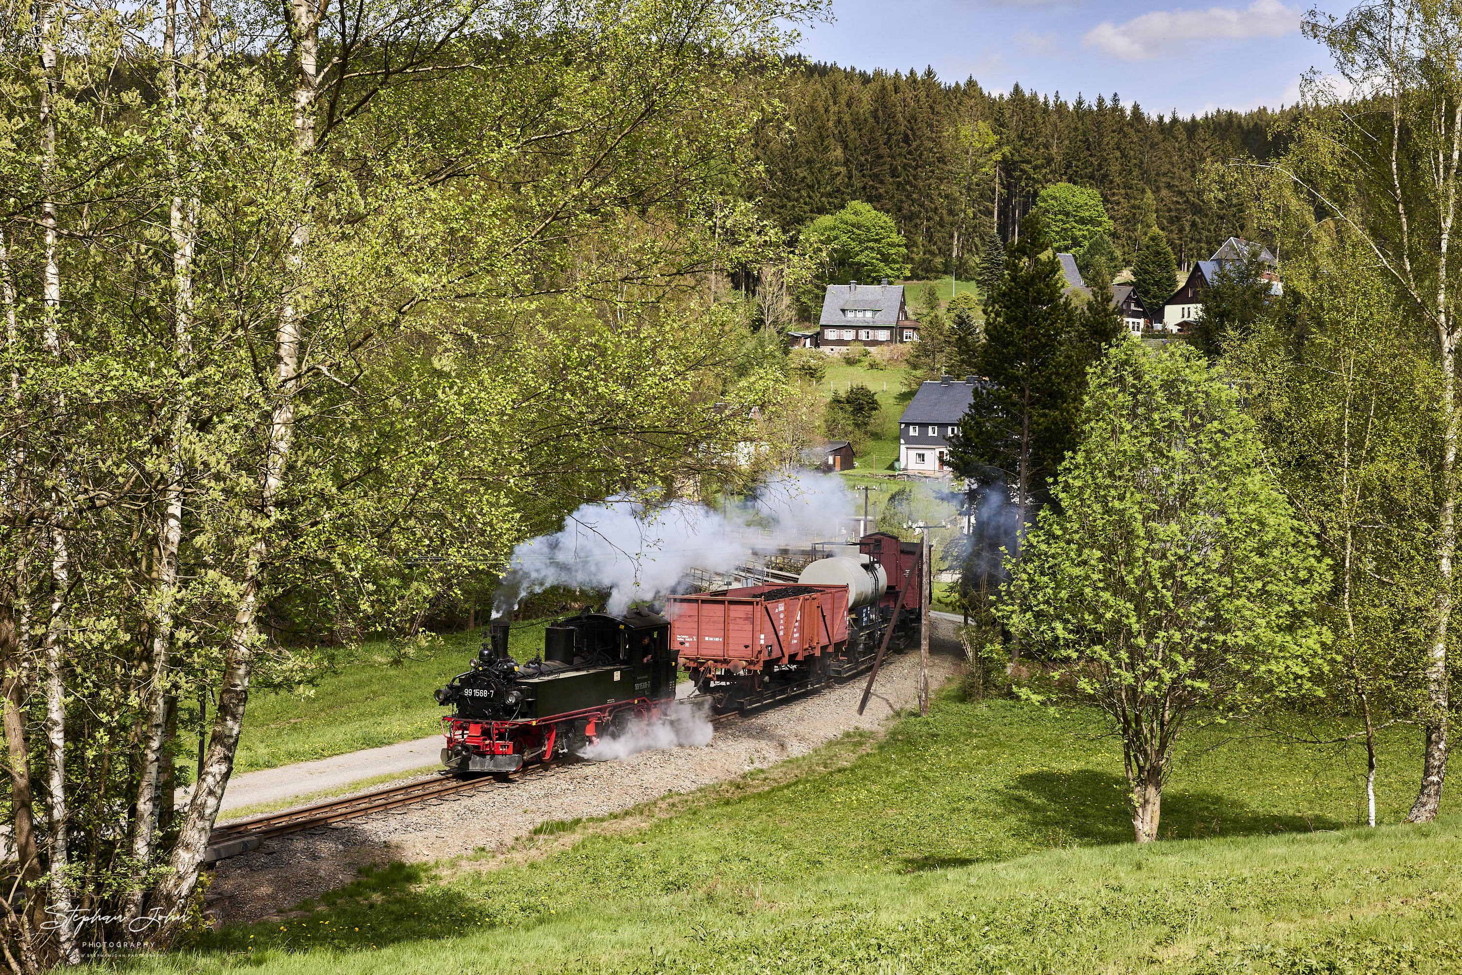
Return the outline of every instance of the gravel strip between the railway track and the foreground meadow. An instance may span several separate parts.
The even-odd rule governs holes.
[[[962,656],[953,624],[931,623],[930,683],[939,687],[961,668]],[[349,883],[355,868],[367,862],[421,862],[482,846],[506,849],[542,822],[618,813],[807,754],[854,728],[879,729],[895,712],[917,703],[918,658],[918,650],[909,650],[885,662],[861,716],[863,678],[722,722],[702,747],[569,763],[461,797],[265,841],[257,851],[219,864],[209,889],[212,911],[230,922],[281,917],[276,912]]]

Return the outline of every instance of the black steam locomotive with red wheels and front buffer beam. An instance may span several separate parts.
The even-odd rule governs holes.
[[[453,772],[515,772],[553,762],[599,735],[659,718],[675,699],[670,621],[648,610],[588,612],[544,631],[526,664],[507,653],[507,623],[494,621],[472,669],[437,688]]]

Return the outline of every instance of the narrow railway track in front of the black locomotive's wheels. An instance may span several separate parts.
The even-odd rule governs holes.
[[[711,722],[721,724],[725,721],[740,721],[741,718],[743,715],[732,712],[727,715],[712,715]],[[522,779],[526,776],[557,772],[558,769],[577,765],[579,762],[582,762],[582,759],[569,759],[566,762],[554,762],[553,765],[532,765],[516,772],[513,778]],[[348,819],[374,816],[376,813],[385,813],[404,805],[417,805],[420,803],[430,803],[431,800],[440,800],[449,795],[474,792],[488,785],[504,785],[504,779],[487,772],[472,776],[455,776],[447,772],[440,772],[437,776],[430,779],[390,785],[382,789],[371,789],[370,792],[348,795],[339,800],[311,803],[310,805],[301,805],[282,813],[250,816],[249,819],[215,826],[212,836],[208,839],[208,851],[203,855],[203,861],[215,862],[218,860],[227,860],[228,857],[237,857],[238,854],[249,852],[250,849],[257,849],[263,841],[273,836],[301,833],[307,829],[316,829],[319,826],[327,826]]]

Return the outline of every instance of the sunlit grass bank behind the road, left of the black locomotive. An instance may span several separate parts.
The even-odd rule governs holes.
[[[519,661],[541,652],[542,629],[544,621],[515,623],[509,652]],[[484,640],[487,627],[446,634],[398,665],[390,664],[390,643],[364,643],[339,650],[335,672],[303,694],[250,694],[234,772],[329,759],[436,734],[444,710],[431,691],[465,671]]]

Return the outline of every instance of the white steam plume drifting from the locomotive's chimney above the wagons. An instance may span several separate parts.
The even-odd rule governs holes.
[[[607,611],[621,614],[632,602],[673,592],[692,567],[730,572],[757,550],[835,538],[851,515],[852,496],[842,481],[811,474],[769,478],[751,504],[727,515],[690,503],[585,504],[563,531],[513,550],[493,595],[493,615],[512,612],[525,596],[550,586],[608,589]]]

